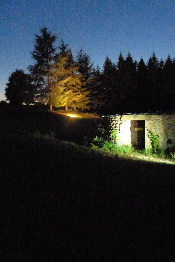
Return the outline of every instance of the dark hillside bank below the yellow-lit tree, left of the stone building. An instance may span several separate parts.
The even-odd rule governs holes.
[[[1,130],[22,130],[54,133],[58,139],[77,142],[84,145],[85,137],[96,134],[97,125],[103,119],[73,118],[66,115],[52,113],[44,109],[30,106],[10,107],[6,105],[0,110]]]

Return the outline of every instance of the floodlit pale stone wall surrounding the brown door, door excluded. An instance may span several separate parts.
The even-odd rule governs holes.
[[[162,148],[175,148],[175,115],[174,114],[128,114],[106,116],[110,130],[116,129],[119,138],[119,145],[131,144],[130,121],[145,121],[145,148],[151,146],[148,138],[148,130],[160,138]]]

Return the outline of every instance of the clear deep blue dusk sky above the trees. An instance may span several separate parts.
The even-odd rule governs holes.
[[[27,72],[33,63],[34,33],[43,26],[69,44],[73,55],[80,47],[96,67],[108,55],[118,61],[130,51],[147,62],[175,56],[175,0],[1,0],[0,100],[8,76],[16,68]]]

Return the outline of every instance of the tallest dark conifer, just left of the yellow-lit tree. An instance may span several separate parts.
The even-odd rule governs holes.
[[[49,98],[49,89],[52,83],[50,67],[56,54],[54,47],[56,35],[48,31],[46,27],[41,28],[40,33],[40,35],[35,34],[34,51],[31,52],[35,64],[29,65],[29,70],[37,85],[38,101],[49,102],[50,109],[52,109]]]

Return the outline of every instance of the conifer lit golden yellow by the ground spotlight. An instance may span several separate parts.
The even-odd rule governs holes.
[[[86,88],[82,88],[83,76],[78,73],[75,63],[70,63],[69,56],[59,57],[50,68],[52,87],[50,101],[55,107],[88,108],[89,98]]]

